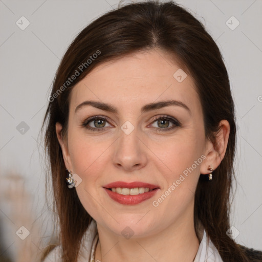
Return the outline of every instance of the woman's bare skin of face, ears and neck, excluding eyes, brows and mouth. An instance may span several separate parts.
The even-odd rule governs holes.
[[[103,63],[72,90],[67,136],[62,138],[62,126],[56,124],[65,166],[82,179],[76,187],[78,197],[97,222],[96,259],[103,262],[181,262],[192,261],[197,254],[200,242],[193,226],[194,192],[200,174],[210,173],[208,166],[215,169],[224,158],[229,123],[221,121],[217,151],[214,150],[205,138],[202,107],[193,79],[189,74],[182,82],[173,77],[179,68],[161,50],[138,52]],[[190,113],[172,105],[141,114],[143,105],[168,99],[185,103]],[[75,112],[85,100],[110,103],[119,112],[110,113],[90,105]],[[104,130],[92,131],[82,126],[83,121],[97,115],[109,119]],[[161,132],[174,125],[170,121],[162,127],[154,120],[163,115],[177,119],[181,126]],[[129,135],[121,129],[126,121],[135,127]],[[89,126],[104,126],[94,124],[90,122]],[[202,155],[205,160],[154,207],[152,202]],[[122,205],[102,188],[115,181],[147,182],[160,189],[140,204]],[[129,239],[121,234],[127,226],[134,231]]]

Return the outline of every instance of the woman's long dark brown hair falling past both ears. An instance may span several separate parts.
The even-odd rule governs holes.
[[[55,123],[62,124],[62,135],[66,136],[70,92],[98,64],[150,49],[170,54],[170,59],[175,58],[193,78],[203,108],[205,135],[214,146],[219,122],[226,119],[230,124],[226,154],[214,170],[212,181],[200,176],[195,192],[194,226],[197,231],[197,222],[202,222],[224,261],[248,261],[243,251],[226,234],[230,228],[229,199],[232,179],[235,178],[236,127],[229,78],[222,55],[199,20],[176,3],[158,1],[119,6],[94,20],[71,43],[56,72],[43,126],[47,125],[45,145],[59,217],[63,261],[77,261],[81,238],[92,217],[81,205],[75,188],[69,189],[65,184],[67,172]],[[73,75],[77,77],[71,82],[68,79]]]

